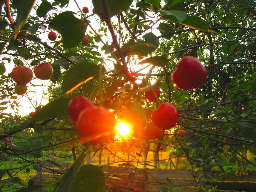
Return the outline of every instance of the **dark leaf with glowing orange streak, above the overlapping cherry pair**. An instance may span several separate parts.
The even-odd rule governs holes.
[[[69,68],[63,78],[63,91],[68,94],[88,80],[98,77],[101,67],[101,65],[84,62]]]

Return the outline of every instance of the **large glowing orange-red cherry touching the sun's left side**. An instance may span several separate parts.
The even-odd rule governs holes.
[[[103,108],[85,108],[78,116],[76,126],[83,142],[104,143],[115,136],[115,115]]]

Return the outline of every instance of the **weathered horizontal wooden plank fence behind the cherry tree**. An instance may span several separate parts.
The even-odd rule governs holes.
[[[54,165],[42,161],[40,164],[49,169],[42,168],[44,178],[60,179],[70,163],[59,163],[63,168],[56,168]],[[122,192],[134,191],[140,188],[143,192],[156,192],[160,185],[167,186],[167,178],[172,181],[174,187],[182,191],[198,191],[198,183],[202,186],[208,184],[203,180],[195,180],[192,170],[161,170],[161,169],[135,169],[130,167],[99,166],[106,176],[106,184],[117,187]],[[208,178],[213,179],[213,185],[220,190],[256,192],[256,172],[244,177],[223,175],[220,171],[210,171]],[[206,178],[207,174],[202,170],[194,172],[199,178]],[[225,179],[224,182],[221,179]],[[130,189],[130,190],[129,190]]]

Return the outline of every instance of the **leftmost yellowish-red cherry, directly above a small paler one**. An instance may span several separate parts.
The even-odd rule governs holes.
[[[32,80],[33,73],[28,67],[17,66],[12,69],[11,76],[18,85],[26,85]]]

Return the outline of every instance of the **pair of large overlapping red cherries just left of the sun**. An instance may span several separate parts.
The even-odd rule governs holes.
[[[115,115],[107,109],[95,106],[83,96],[75,97],[69,102],[68,114],[83,143],[104,143],[115,136]]]

